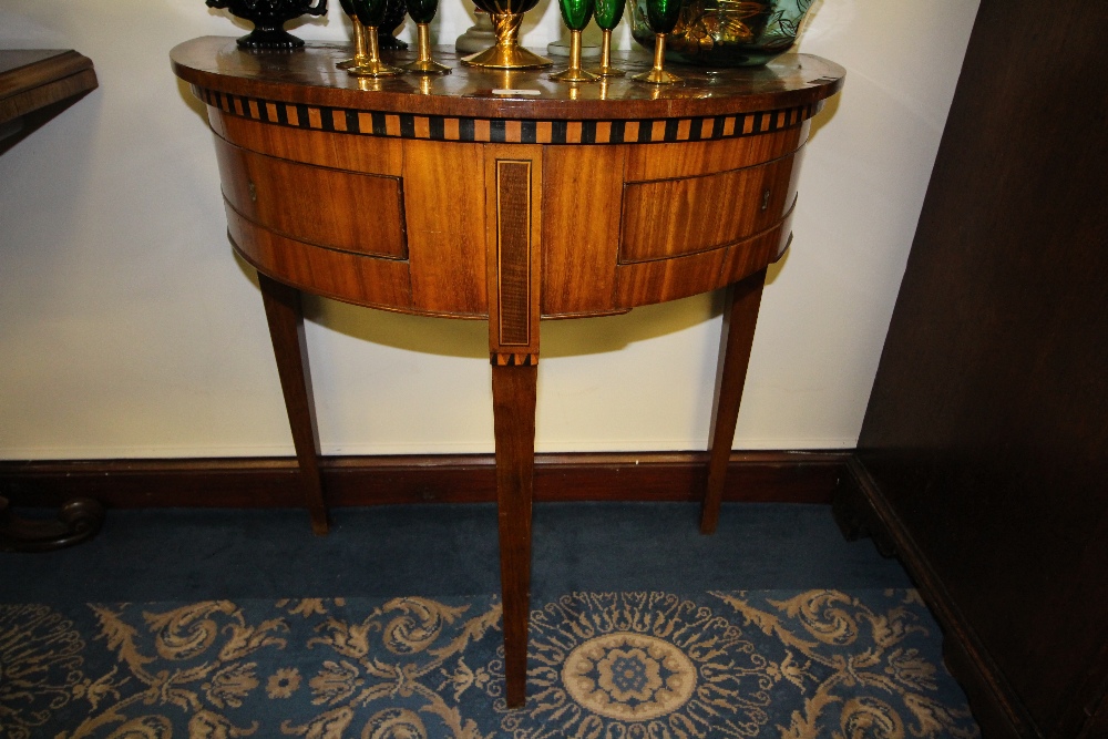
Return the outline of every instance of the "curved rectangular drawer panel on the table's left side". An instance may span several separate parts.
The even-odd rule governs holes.
[[[255,154],[216,138],[224,196],[250,220],[332,249],[408,257],[402,179]]]

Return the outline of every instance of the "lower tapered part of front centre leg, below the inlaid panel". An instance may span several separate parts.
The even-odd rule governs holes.
[[[531,604],[531,495],[535,456],[538,367],[493,366],[496,434],[496,511],[500,582],[504,598],[504,675],[507,706],[526,701],[527,614]]]

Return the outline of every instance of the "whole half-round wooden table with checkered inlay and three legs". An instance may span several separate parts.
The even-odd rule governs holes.
[[[336,70],[349,54],[203,38],[171,57],[207,105],[228,232],[259,273],[317,532],[327,510],[300,291],[489,321],[506,698],[520,706],[540,319],[730,288],[701,517],[711,532],[766,267],[791,237],[809,120],[844,72],[787,55],[757,70],[675,65],[686,83],[671,88],[572,88],[440,52],[450,75],[373,81]]]

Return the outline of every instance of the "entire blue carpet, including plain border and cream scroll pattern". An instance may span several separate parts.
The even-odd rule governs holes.
[[[825,506],[701,536],[690,504],[537,505],[516,711],[495,507],[334,514],[112,511],[0,555],[0,739],[977,736],[904,571]]]

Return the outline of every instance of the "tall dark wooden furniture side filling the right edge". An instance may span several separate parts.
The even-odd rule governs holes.
[[[1108,736],[1106,39],[982,0],[859,444],[986,739]]]

